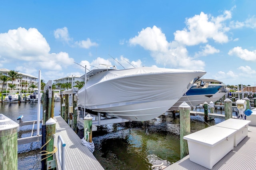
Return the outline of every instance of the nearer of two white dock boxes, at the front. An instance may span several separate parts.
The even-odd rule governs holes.
[[[188,141],[189,158],[208,169],[234,149],[235,129],[210,126],[183,139]]]

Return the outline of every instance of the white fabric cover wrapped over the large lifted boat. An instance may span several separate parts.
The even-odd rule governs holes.
[[[151,67],[100,71],[97,73],[97,69],[93,70],[96,74],[87,76],[86,93],[84,87],[78,92],[78,106],[86,104],[86,108],[90,109],[104,104],[127,104],[129,101],[178,100],[188,90],[188,77],[193,85],[193,79],[196,77],[193,75],[200,77],[206,73],[201,70]],[[192,72],[194,74],[190,75]],[[185,80],[186,86],[182,82]],[[182,86],[183,90],[176,95],[179,86]],[[166,95],[166,90],[170,90],[167,94],[175,95]]]

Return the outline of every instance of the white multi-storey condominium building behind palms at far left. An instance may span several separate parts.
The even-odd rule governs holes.
[[[8,70],[7,68],[0,68],[0,72],[5,75],[8,76],[8,72],[10,70]],[[15,85],[15,90],[28,90],[31,84],[34,84],[37,86],[38,84],[38,78],[35,76],[32,76],[30,74],[25,74],[22,72],[18,72],[20,74],[20,78],[16,79],[13,81],[13,85]],[[9,87],[9,84],[12,84],[12,80],[8,80],[7,82],[4,82],[0,80],[0,89],[3,91],[8,91],[11,90],[11,88]]]

